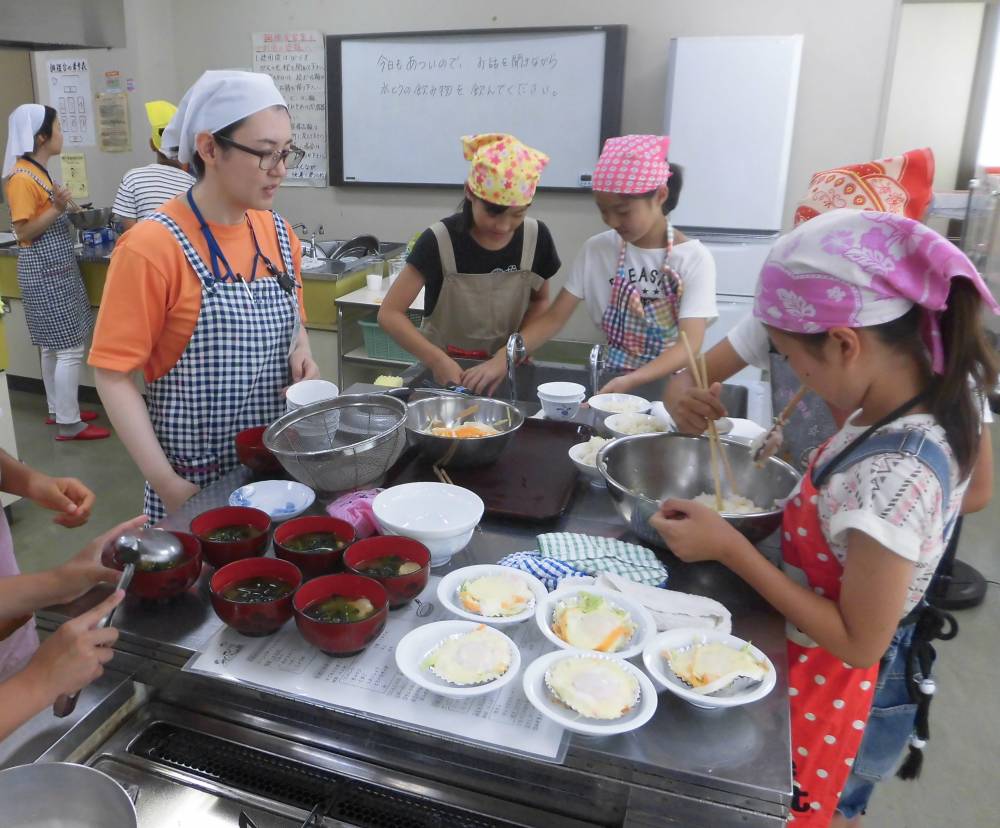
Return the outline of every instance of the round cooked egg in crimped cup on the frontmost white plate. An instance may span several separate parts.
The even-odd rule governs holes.
[[[560,702],[589,719],[620,719],[639,701],[639,682],[606,658],[564,658],[545,672],[545,685]]]

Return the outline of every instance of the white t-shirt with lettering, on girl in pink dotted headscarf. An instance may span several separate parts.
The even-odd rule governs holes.
[[[611,303],[620,248],[621,236],[614,230],[591,236],[577,254],[566,281],[566,290],[586,303],[587,312],[598,327]],[[666,295],[660,274],[665,253],[663,247],[634,244],[625,247],[625,274],[650,299]],[[715,319],[719,315],[715,307],[715,259],[708,248],[697,239],[675,244],[669,264],[684,285],[681,319]]]

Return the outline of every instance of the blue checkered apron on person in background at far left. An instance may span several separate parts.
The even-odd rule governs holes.
[[[52,200],[52,190],[29,170],[12,175],[33,178]],[[17,284],[24,303],[31,343],[42,348],[76,348],[87,341],[94,313],[73,250],[69,219],[59,216],[48,229],[17,252]]]

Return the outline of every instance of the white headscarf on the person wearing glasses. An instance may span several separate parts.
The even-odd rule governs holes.
[[[199,133],[218,132],[271,106],[288,108],[270,75],[211,69],[181,98],[177,114],[163,130],[161,152],[190,164]]]

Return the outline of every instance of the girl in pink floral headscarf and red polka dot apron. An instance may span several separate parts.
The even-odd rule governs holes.
[[[781,570],[698,504],[665,501],[653,519],[682,560],[720,561],[788,619],[796,825],[843,824],[878,660],[919,612],[959,514],[975,392],[997,377],[984,303],[1000,313],[961,251],[911,219],[836,210],[796,228],[761,271],[754,314],[804,385],[856,412],[785,504]]]

